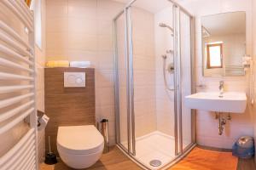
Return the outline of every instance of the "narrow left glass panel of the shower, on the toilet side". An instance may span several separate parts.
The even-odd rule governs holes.
[[[115,46],[115,112],[117,124],[117,142],[128,152],[131,147],[131,118],[129,104],[129,84],[128,77],[128,56],[125,47],[125,13],[121,13],[113,22],[114,46]]]

